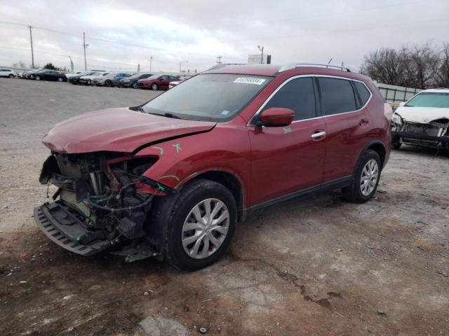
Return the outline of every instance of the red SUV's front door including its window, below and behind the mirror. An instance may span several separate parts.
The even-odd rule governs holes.
[[[319,188],[323,177],[326,124],[317,112],[314,80],[297,76],[286,80],[269,97],[260,112],[270,107],[295,111],[287,127],[249,126],[251,144],[252,205],[261,204],[307,188]],[[256,117],[257,118],[257,117]],[[255,125],[255,118],[250,124]]]

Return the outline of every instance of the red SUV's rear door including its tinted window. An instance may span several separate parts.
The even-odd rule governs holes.
[[[326,121],[327,149],[323,182],[351,176],[370,132],[370,117],[349,78],[319,77]]]

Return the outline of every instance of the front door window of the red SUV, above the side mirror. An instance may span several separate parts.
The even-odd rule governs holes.
[[[269,99],[263,110],[270,107],[292,109],[295,111],[295,119],[293,120],[315,118],[315,94],[312,79],[296,78],[290,80],[274,94],[272,99]]]

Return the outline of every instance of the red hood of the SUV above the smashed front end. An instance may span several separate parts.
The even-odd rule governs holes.
[[[128,108],[106,109],[58,123],[43,137],[42,142],[58,153],[131,153],[142,145],[207,132],[215,125],[206,121],[154,116]]]

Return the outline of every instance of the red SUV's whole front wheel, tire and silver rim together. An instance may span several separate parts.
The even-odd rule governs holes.
[[[179,269],[194,271],[213,264],[226,252],[234,236],[237,207],[225,186],[197,179],[179,195],[164,197],[156,216],[158,223],[166,223],[166,260]]]

